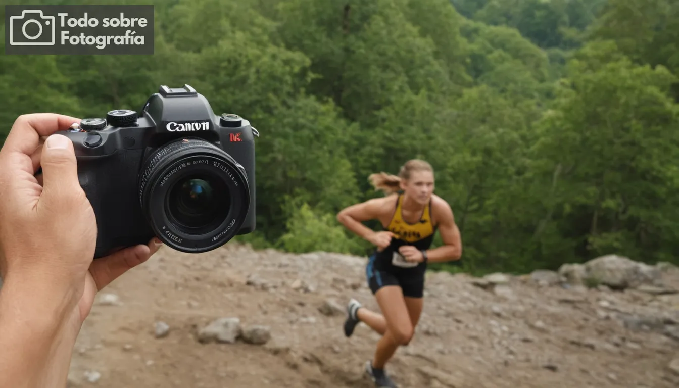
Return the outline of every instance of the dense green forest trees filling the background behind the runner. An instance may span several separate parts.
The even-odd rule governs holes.
[[[365,253],[335,213],[419,157],[464,270],[679,263],[677,1],[155,3],[153,56],[0,56],[0,139],[190,84],[261,133],[257,247]]]

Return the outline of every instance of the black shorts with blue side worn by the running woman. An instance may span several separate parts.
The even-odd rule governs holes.
[[[387,285],[398,285],[403,296],[422,298],[424,295],[424,273],[419,270],[391,270],[375,266],[375,255],[371,255],[365,268],[368,287],[373,295]]]

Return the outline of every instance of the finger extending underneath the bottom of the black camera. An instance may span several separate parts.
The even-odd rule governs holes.
[[[154,237],[148,245],[135,245],[94,260],[90,264],[90,273],[96,289],[100,291],[131,268],[146,262],[161,246],[160,240]]]

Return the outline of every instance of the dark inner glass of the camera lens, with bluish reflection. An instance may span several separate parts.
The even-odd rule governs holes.
[[[229,211],[228,190],[218,179],[205,175],[187,177],[170,189],[168,211],[181,228],[210,230]]]

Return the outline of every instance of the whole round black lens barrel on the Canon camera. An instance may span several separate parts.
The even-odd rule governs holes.
[[[244,169],[202,139],[179,139],[155,150],[139,177],[139,200],[163,243],[204,252],[230,241],[250,207]]]

